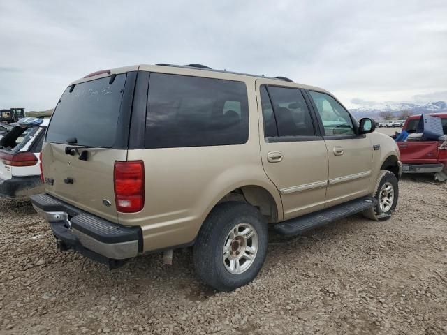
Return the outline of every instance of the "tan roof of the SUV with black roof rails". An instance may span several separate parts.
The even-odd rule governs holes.
[[[247,80],[247,77],[252,78],[254,80],[256,79],[266,79],[266,80],[274,80],[278,83],[282,84],[293,84],[292,86],[300,87],[303,89],[312,89],[316,91],[322,91],[325,93],[329,93],[325,89],[322,89],[321,87],[314,87],[309,86],[305,84],[299,84],[297,82],[293,82],[292,80],[288,79],[287,77],[265,77],[264,75],[251,75],[247,73],[237,73],[227,70],[215,70],[212,68],[209,68],[207,66],[203,66],[200,64],[189,64],[186,66],[181,65],[174,65],[174,64],[156,64],[156,65],[148,65],[148,64],[140,64],[140,65],[134,65],[134,66],[124,66],[122,68],[112,68],[110,70],[101,70],[94,73],[91,73],[85,77],[82,77],[78,80],[75,80],[74,82],[71,82],[70,85],[73,84],[80,84],[81,82],[88,82],[89,80],[98,79],[101,77],[108,77],[112,74],[119,74],[119,73],[126,73],[129,71],[149,71],[149,72],[158,72],[158,73],[173,73],[173,74],[184,74],[184,75],[203,75],[203,71],[207,71],[210,73],[213,73],[213,77],[220,77],[221,79],[228,79],[228,77],[232,77],[233,80],[241,80],[245,79]],[[239,78],[238,78],[239,77]],[[68,86],[70,86],[68,85]],[[287,85],[288,86],[288,85]]]

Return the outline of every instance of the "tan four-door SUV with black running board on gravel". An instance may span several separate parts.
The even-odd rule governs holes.
[[[295,235],[396,207],[399,151],[328,91],[199,64],[129,66],[70,84],[47,128],[45,194],[61,250],[118,267],[193,246],[201,280],[253,280],[268,224]]]

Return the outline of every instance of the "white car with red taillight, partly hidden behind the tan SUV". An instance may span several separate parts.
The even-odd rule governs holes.
[[[0,198],[42,192],[39,156],[49,123],[49,119],[24,118],[0,139]]]

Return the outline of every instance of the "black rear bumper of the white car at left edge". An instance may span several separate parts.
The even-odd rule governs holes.
[[[40,176],[0,179],[0,198],[23,199],[42,191],[43,184]]]

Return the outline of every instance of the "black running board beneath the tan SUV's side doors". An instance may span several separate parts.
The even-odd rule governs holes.
[[[344,204],[338,204],[337,206],[322,209],[315,213],[306,214],[298,218],[291,218],[290,220],[277,223],[274,225],[274,230],[281,235],[290,236],[302,234],[307,230],[321,227],[332,221],[360,213],[360,211],[365,211],[365,209],[374,207],[376,204],[377,200],[372,197],[351,200]]]

